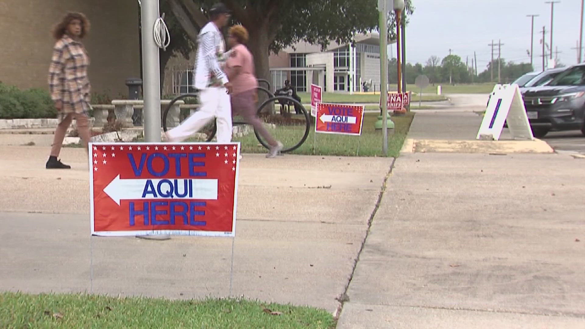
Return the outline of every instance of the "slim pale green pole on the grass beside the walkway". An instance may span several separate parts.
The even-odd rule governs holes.
[[[388,15],[386,0],[378,1],[380,9],[380,98],[382,103],[382,151],[388,156]],[[381,8],[380,8],[381,7]]]

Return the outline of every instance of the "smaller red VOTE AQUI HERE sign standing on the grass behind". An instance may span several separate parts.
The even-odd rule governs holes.
[[[362,135],[363,116],[363,106],[319,103],[315,132]]]

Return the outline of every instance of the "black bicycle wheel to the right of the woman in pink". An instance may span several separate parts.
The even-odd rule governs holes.
[[[261,114],[262,109],[273,102],[280,102],[281,104],[298,105],[302,110],[302,116],[304,117],[304,121],[302,119],[288,118],[289,121],[287,122],[285,119],[282,120],[274,119],[278,117],[285,118],[283,115]],[[277,140],[280,139],[280,141],[284,144],[284,149],[281,151],[283,153],[291,152],[292,150],[299,148],[302,145],[302,143],[304,143],[305,140],[307,140],[307,136],[309,136],[309,129],[311,129],[311,118],[307,113],[305,107],[302,106],[302,104],[295,100],[294,98],[288,96],[271,97],[268,100],[264,101],[262,105],[260,105],[260,107],[258,108],[258,114],[260,116],[266,116],[264,121],[266,121],[268,124],[276,125],[276,129],[274,129],[275,131],[271,132],[269,129],[269,132],[274,136],[275,139]],[[302,131],[303,127],[304,132]],[[270,145],[266,142],[266,140],[263,140],[261,138],[260,134],[258,133],[258,131],[256,131],[256,129],[254,129],[254,135],[256,135],[256,138],[258,139],[260,144],[264,146],[264,148],[267,149],[270,148]]]

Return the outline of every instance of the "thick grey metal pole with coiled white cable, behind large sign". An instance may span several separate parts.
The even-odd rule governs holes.
[[[144,92],[144,141],[160,142],[160,61],[154,43],[154,23],[159,17],[159,0],[142,0],[142,71]]]

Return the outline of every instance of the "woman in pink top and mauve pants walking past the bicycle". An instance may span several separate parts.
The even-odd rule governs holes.
[[[226,73],[232,84],[232,114],[241,115],[244,120],[270,145],[266,157],[275,157],[283,149],[283,143],[275,140],[256,115],[256,87],[258,81],[254,76],[254,59],[244,45],[248,41],[248,31],[242,25],[229,29],[228,43],[232,47],[226,60]]]

